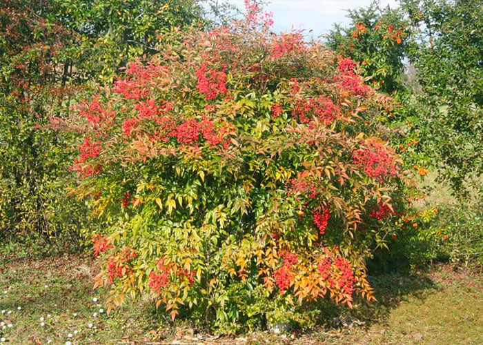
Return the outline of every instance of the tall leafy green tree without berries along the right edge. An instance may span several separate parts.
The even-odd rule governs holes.
[[[430,109],[420,128],[423,146],[442,180],[466,193],[465,179],[481,176],[483,4],[477,0],[402,1],[411,20],[408,57]]]

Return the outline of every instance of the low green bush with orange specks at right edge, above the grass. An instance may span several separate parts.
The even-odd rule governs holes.
[[[421,268],[434,262],[482,267],[483,230],[479,208],[441,204],[414,210],[397,222],[391,252],[378,253],[371,268]]]

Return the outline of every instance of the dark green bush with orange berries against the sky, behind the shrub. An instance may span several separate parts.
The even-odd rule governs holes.
[[[380,8],[373,1],[367,8],[349,10],[347,17],[351,23],[347,28],[335,26],[328,34],[328,46],[358,61],[362,74],[371,77],[382,92],[402,90],[408,39],[408,22],[402,11]]]

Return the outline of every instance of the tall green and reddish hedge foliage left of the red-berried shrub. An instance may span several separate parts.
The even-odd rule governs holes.
[[[48,113],[68,116],[87,81],[112,80],[130,57],[152,53],[159,34],[198,18],[192,1],[1,2],[0,238],[79,242],[91,224],[65,191],[75,183],[70,135],[35,127]]]

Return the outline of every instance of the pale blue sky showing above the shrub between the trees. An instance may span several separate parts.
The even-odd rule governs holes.
[[[244,8],[244,0],[230,0]],[[273,12],[274,31],[313,30],[313,37],[326,34],[334,23],[346,24],[348,8],[368,6],[371,0],[271,0],[267,10]],[[396,7],[396,0],[381,0],[381,6]]]

